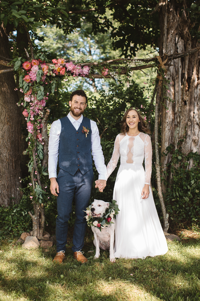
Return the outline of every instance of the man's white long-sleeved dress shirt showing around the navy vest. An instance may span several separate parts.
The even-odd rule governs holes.
[[[73,124],[76,130],[78,130],[80,124],[83,120],[83,115],[76,120],[70,113],[67,115],[70,122]],[[106,165],[104,164],[103,151],[100,144],[99,130],[97,128],[97,123],[90,120],[91,123],[91,144],[92,144],[92,156],[94,164],[96,166],[97,172],[99,173],[100,180],[106,180]],[[61,133],[61,122],[60,119],[54,121],[51,126],[49,134],[49,178],[57,178],[57,163],[58,163],[58,148]]]

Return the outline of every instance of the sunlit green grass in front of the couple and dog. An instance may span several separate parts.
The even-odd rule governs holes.
[[[86,237],[88,263],[73,259],[71,248],[63,264],[53,264],[55,247],[24,250],[12,243],[1,244],[0,300],[2,301],[121,301],[121,300],[200,300],[200,246],[197,240],[169,242],[164,256],[109,261],[94,250]],[[130,276],[133,274],[133,276]]]

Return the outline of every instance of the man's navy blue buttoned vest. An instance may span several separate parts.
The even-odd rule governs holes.
[[[92,169],[90,119],[83,116],[78,130],[67,116],[61,118],[60,121],[62,127],[59,141],[59,167],[71,175],[80,169],[84,175]],[[85,133],[82,133],[83,126],[89,129],[87,138]]]

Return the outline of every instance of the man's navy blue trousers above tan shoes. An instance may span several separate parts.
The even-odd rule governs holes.
[[[67,244],[68,220],[72,212],[72,202],[75,198],[76,220],[73,232],[73,252],[82,249],[84,245],[87,222],[84,216],[90,200],[91,188],[94,181],[93,169],[84,175],[77,170],[75,175],[60,169],[57,177],[59,194],[57,197],[58,216],[56,219],[57,252],[65,251]]]

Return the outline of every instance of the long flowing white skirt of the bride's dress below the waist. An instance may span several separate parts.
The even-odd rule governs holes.
[[[142,199],[145,171],[142,165],[120,165],[113,199],[120,209],[115,224],[115,257],[145,258],[168,251],[153,195]]]

